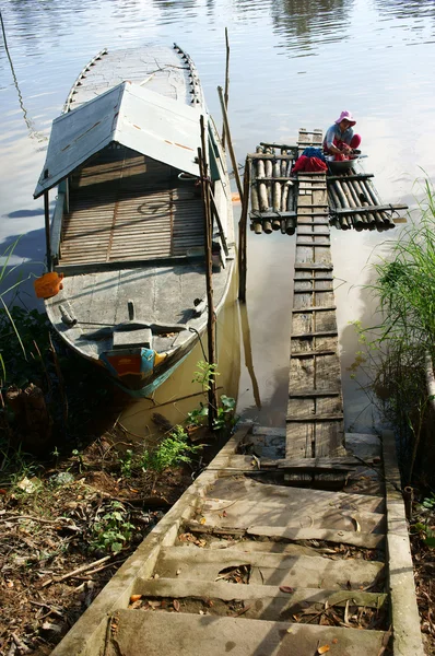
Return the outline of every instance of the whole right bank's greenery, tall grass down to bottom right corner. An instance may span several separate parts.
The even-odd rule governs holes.
[[[435,194],[424,180],[415,221],[390,255],[374,265],[374,326],[356,325],[362,349],[354,370],[364,370],[366,390],[397,436],[407,488],[416,593],[427,653],[435,653]],[[412,502],[413,499],[413,502]]]

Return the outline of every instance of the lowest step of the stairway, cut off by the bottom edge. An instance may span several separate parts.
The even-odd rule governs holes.
[[[333,656],[377,656],[383,631],[220,618],[179,612],[119,610],[111,617],[105,656],[310,656],[330,645]]]

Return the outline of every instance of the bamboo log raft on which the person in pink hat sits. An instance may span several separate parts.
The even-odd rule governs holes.
[[[294,163],[302,154],[301,134],[315,134],[315,147],[321,148],[321,131],[301,130],[296,145],[261,142],[256,153],[247,157],[250,179],[250,229],[256,234],[281,231],[293,235],[296,232],[296,198],[301,178],[292,174]],[[404,222],[400,210],[403,203],[384,203],[372,178],[373,173],[350,168],[340,174],[328,174],[329,223],[338,230],[377,230],[383,232]]]

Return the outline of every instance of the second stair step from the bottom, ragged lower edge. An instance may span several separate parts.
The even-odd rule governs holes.
[[[271,585],[238,585],[236,589],[226,582],[197,581],[177,578],[139,578],[136,582],[134,595],[142,595],[139,608],[146,606],[149,599],[166,599],[166,608],[173,609],[172,600],[179,599],[180,612],[202,610],[207,614],[224,616],[231,613],[227,601],[237,600],[245,612],[244,618],[257,620],[291,620],[292,616],[307,609],[320,612],[326,607],[345,608],[350,613],[357,608],[384,609],[388,602],[385,593],[366,593],[362,590],[326,590],[314,588],[294,588],[282,591]],[[183,599],[189,602],[183,604]],[[193,600],[196,606],[191,606]],[[134,604],[138,604],[134,601]],[[189,609],[190,605],[190,609]],[[201,613],[202,614],[202,613]]]

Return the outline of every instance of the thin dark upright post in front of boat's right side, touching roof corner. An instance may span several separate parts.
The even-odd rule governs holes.
[[[202,199],[204,207],[204,237],[205,237],[205,286],[207,286],[207,304],[208,304],[208,320],[207,336],[209,345],[209,364],[216,363],[214,340],[215,340],[215,315],[213,306],[213,262],[212,262],[212,215],[211,215],[211,199],[210,199],[210,180],[208,177],[207,164],[207,139],[204,117],[201,116],[201,148],[198,149],[198,160],[201,175]],[[217,397],[215,377],[211,376],[209,383],[209,429],[213,430],[213,422],[217,417]]]

